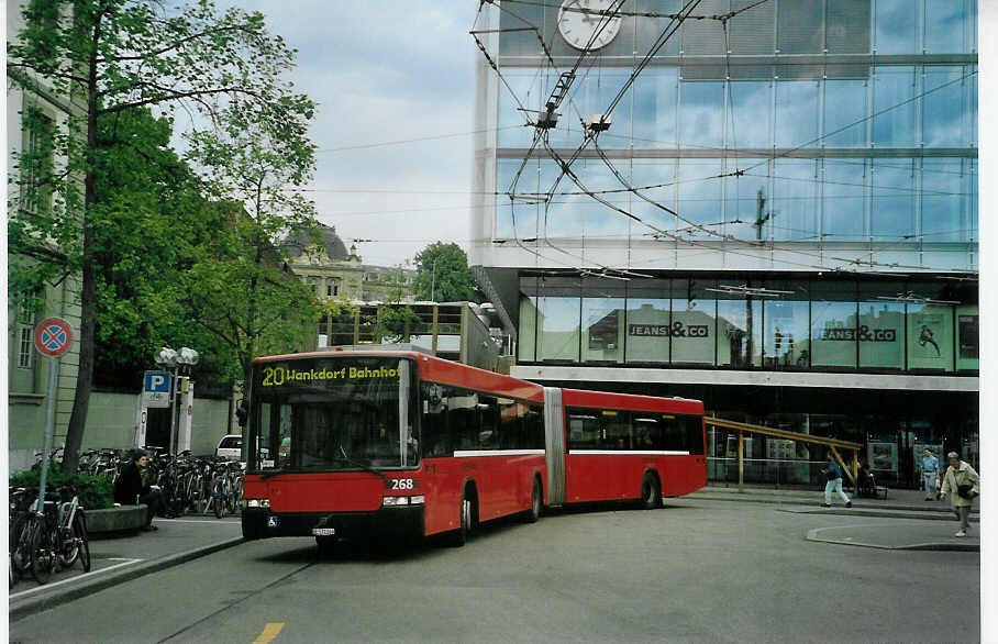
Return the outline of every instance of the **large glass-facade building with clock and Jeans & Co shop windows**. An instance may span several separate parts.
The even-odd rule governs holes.
[[[894,445],[888,479],[975,459],[976,1],[680,4],[624,2],[589,51],[570,2],[479,15],[470,259],[513,375]]]

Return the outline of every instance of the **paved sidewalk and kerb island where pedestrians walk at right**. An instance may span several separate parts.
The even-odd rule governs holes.
[[[807,538],[814,542],[873,547],[880,549],[980,551],[979,514],[977,507],[971,512],[967,536],[955,536],[960,528],[946,501],[927,501],[920,490],[888,490],[887,499],[846,496],[853,507],[846,508],[836,495],[832,507],[823,508],[824,488],[784,488],[762,486],[738,487],[708,485],[688,499],[710,499],[743,503],[774,503],[781,512],[794,514],[827,514],[841,517],[842,524],[808,531]],[[863,519],[897,519],[890,523],[871,524]]]

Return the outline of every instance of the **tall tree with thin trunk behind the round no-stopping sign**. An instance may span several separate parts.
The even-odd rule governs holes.
[[[98,175],[118,143],[101,136],[100,119],[143,107],[185,110],[199,114],[195,125],[219,127],[223,118],[237,115],[270,135],[300,138],[313,104],[284,78],[295,51],[268,33],[258,12],[219,12],[209,0],[30,0],[23,16],[25,27],[8,45],[9,84],[69,97],[75,111],[52,142],[53,158],[65,159],[65,167],[38,177],[15,162],[16,180],[44,186],[52,200],[44,211],[23,208],[21,196],[41,190],[11,191],[10,251],[36,259],[12,262],[12,274],[31,274],[12,284],[80,276],[79,371],[64,458],[75,468],[93,384],[96,233],[108,208]],[[24,122],[34,126],[30,118]]]

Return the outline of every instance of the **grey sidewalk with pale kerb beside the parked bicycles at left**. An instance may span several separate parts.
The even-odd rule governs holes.
[[[8,617],[25,615],[91,595],[136,577],[176,566],[242,543],[239,517],[186,514],[178,519],[156,518],[154,532],[122,536],[92,535],[90,571],[79,562],[40,585],[29,571],[9,590]]]

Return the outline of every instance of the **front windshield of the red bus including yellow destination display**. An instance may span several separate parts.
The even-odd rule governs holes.
[[[419,465],[411,358],[345,355],[254,366],[250,462],[258,471]]]

